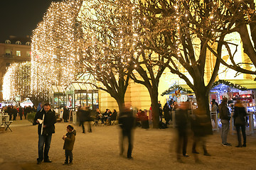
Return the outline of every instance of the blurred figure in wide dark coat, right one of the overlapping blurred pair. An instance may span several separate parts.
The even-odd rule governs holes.
[[[193,131],[193,147],[192,153],[195,154],[195,161],[198,162],[199,154],[196,151],[196,145],[199,143],[203,147],[203,154],[205,156],[210,156],[206,149],[206,135],[212,135],[213,130],[210,123],[210,118],[206,115],[206,111],[197,108],[191,115],[191,130]]]

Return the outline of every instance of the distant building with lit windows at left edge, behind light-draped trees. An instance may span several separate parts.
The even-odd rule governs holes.
[[[31,38],[17,38],[10,36],[8,40],[0,42],[0,101],[3,101],[3,77],[8,67],[14,62],[31,60]]]

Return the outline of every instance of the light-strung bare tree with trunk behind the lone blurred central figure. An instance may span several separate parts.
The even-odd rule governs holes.
[[[129,37],[131,21],[127,20],[119,6],[110,1],[84,1],[80,12],[84,42],[80,49],[80,77],[87,77],[97,89],[112,96],[121,111],[132,68],[127,67],[133,54]],[[86,75],[86,76],[85,76]],[[85,79],[85,78],[84,78]]]

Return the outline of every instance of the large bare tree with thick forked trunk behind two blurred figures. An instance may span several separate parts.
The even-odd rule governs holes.
[[[198,107],[210,115],[208,94],[218,75],[220,59],[206,80],[210,55],[222,56],[229,44],[225,35],[232,31],[229,11],[222,1],[139,1],[138,33],[143,49],[150,49],[169,60],[168,68],[196,94]],[[225,18],[225,20],[223,19]],[[160,64],[163,65],[163,64]]]

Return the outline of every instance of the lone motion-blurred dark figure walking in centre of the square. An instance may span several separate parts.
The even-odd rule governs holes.
[[[122,108],[122,111],[119,113],[118,123],[121,128],[121,134],[119,137],[119,149],[120,155],[124,153],[124,137],[128,139],[128,150],[127,150],[127,158],[133,159],[132,157],[132,147],[133,147],[133,130],[135,127],[135,117],[130,109],[129,104]]]

